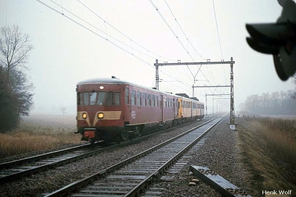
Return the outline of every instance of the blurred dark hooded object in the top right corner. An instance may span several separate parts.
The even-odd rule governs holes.
[[[247,42],[255,51],[273,55],[276,72],[286,81],[296,72],[296,3],[278,2],[283,10],[276,23],[247,24]]]

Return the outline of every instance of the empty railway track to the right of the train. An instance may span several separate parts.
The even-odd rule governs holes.
[[[73,197],[139,196],[154,179],[181,159],[222,118],[216,117],[96,174],[46,194],[46,197],[65,196],[74,191],[75,193],[71,194]],[[161,188],[155,190],[155,193],[160,193],[157,190],[161,191]]]

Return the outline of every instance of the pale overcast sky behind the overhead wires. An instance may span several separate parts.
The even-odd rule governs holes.
[[[36,87],[35,113],[61,113],[62,106],[74,113],[76,83],[88,78],[113,75],[155,87],[155,59],[220,62],[233,57],[235,111],[249,95],[295,88],[291,79],[279,79],[272,56],[246,42],[246,23],[273,23],[280,16],[276,0],[214,0],[221,49],[212,0],[40,1],[56,11],[36,0],[0,0],[0,26],[19,25],[34,45],[28,74]],[[160,67],[160,90],[192,96],[192,74],[199,66],[188,67]],[[229,68],[204,65],[194,85],[230,85]],[[203,102],[213,93],[229,94],[230,88],[195,89]],[[225,108],[229,111],[229,104]]]

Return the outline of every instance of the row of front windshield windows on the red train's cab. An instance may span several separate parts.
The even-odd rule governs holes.
[[[78,92],[77,104],[85,105],[104,105],[113,106],[120,105],[119,92],[93,91],[93,92]]]

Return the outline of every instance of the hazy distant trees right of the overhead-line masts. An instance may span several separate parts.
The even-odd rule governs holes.
[[[296,91],[289,90],[271,94],[250,95],[241,107],[243,111],[251,114],[296,115]]]

